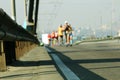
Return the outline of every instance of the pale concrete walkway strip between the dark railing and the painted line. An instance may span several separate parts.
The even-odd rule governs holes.
[[[64,80],[44,47],[36,47],[0,72],[0,80]]]

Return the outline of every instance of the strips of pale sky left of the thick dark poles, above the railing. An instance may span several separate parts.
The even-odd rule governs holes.
[[[10,17],[12,16],[12,0],[0,0],[0,8],[2,8]],[[25,21],[24,13],[24,0],[16,1],[16,21],[18,24],[23,25]]]

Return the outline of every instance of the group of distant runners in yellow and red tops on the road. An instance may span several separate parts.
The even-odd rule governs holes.
[[[72,46],[72,31],[72,27],[67,21],[65,21],[64,25],[60,24],[58,30],[48,34],[49,45]]]

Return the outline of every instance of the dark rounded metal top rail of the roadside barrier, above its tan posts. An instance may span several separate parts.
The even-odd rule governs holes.
[[[21,25],[12,20],[3,9],[0,8],[0,40],[3,41],[31,41],[39,43],[38,39]]]

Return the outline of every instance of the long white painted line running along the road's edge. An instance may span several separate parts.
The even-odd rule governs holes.
[[[52,52],[50,49],[46,48],[48,52]],[[55,63],[62,71],[64,76],[67,80],[80,80],[78,76],[75,75],[61,60],[56,54],[51,54],[52,58],[54,59]]]

